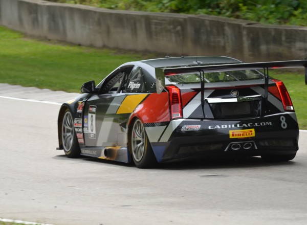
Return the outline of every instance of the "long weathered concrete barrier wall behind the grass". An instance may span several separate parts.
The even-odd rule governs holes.
[[[307,27],[209,15],[108,10],[41,0],[0,0],[0,24],[40,38],[166,55],[243,61],[307,58]]]

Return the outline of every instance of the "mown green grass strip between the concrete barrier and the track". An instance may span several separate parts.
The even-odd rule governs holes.
[[[0,83],[67,92],[79,92],[81,84],[89,80],[100,82],[124,62],[157,57],[36,40],[4,27],[0,27],[0,50]],[[286,84],[300,128],[307,129],[307,86],[303,71],[274,70],[270,75]]]

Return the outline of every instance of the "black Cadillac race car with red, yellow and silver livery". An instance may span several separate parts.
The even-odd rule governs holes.
[[[289,161],[298,123],[286,86],[268,71],[302,67],[306,79],[306,66],[225,56],[127,62],[62,104],[57,149],[138,168],[209,155]]]

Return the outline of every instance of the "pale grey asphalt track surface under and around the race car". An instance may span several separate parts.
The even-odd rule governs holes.
[[[55,225],[307,224],[307,132],[287,163],[254,157],[145,170],[68,159],[55,150],[56,122],[59,103],[74,95],[0,84],[0,218]]]

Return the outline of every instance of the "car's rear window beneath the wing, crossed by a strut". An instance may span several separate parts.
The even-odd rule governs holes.
[[[200,73],[166,73],[165,78],[172,83],[199,83],[201,81]],[[264,75],[257,70],[242,70],[242,71],[224,71],[205,73],[205,82],[229,82],[243,80],[258,80],[264,79]]]

